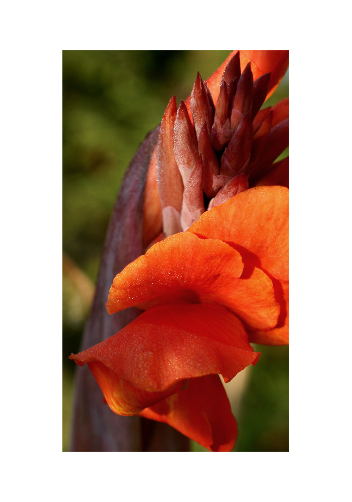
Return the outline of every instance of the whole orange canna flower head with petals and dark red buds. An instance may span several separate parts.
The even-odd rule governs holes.
[[[275,163],[288,102],[260,109],[287,66],[288,51],[234,51],[179,108],[170,100],[148,167],[147,250],[107,302],[109,314],[144,312],[70,356],[116,414],[166,422],[212,451],[237,437],[219,375],[256,364],[250,343],[288,343],[288,161]]]

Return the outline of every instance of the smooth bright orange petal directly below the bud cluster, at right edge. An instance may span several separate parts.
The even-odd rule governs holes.
[[[187,232],[228,242],[239,250],[245,262],[280,281],[288,281],[287,188],[250,188],[202,214]]]

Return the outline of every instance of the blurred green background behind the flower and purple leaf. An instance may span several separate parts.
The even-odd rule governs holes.
[[[124,172],[173,95],[191,93],[229,51],[63,51],[63,451],[72,379],[110,214]],[[288,96],[285,77],[265,103]],[[289,451],[289,350],[256,346],[234,451]],[[194,451],[207,451],[196,443]]]

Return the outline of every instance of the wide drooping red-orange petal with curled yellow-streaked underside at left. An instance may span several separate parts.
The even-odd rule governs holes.
[[[178,392],[190,378],[221,373],[228,382],[256,363],[258,354],[224,307],[180,303],[148,309],[70,358],[88,363],[115,413],[134,415]]]

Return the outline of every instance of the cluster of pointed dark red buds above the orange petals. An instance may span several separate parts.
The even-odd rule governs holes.
[[[237,52],[222,75],[216,103],[199,73],[190,109],[170,99],[156,157],[163,236],[187,230],[206,210],[266,184],[274,173],[281,177],[278,184],[287,185],[288,159],[274,161],[289,144],[288,100],[260,109],[270,76],[253,81],[250,63],[241,72]]]

